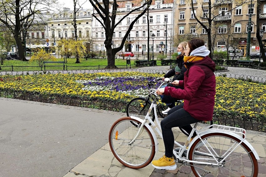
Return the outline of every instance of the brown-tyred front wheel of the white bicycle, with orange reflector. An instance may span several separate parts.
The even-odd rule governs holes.
[[[139,131],[133,123],[140,124],[139,121],[130,117],[118,119],[110,129],[109,145],[121,164],[139,169],[152,161],[155,155],[155,142],[149,129],[144,126],[136,140],[129,144]]]

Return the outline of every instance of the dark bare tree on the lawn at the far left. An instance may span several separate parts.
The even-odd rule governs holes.
[[[35,14],[48,10],[51,5],[52,0],[3,0],[0,3],[0,21],[12,32],[20,60],[27,61],[21,33],[25,40]]]

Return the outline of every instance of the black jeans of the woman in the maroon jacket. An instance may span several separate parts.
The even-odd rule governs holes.
[[[193,118],[187,111],[185,111],[183,106],[184,104],[180,104],[170,109],[167,117],[161,121],[166,157],[173,157],[174,134],[172,128],[182,127],[187,133],[190,133],[192,131],[190,124],[200,122],[200,120]]]

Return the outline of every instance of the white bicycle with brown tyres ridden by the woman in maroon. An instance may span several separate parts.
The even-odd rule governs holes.
[[[158,96],[155,91],[153,89],[153,94]],[[159,128],[149,117],[152,108],[156,110],[154,101],[144,120],[135,116],[124,117],[118,119],[110,129],[111,151],[126,167],[143,168],[150,164],[158,151],[159,143],[154,129],[163,137],[156,111],[154,114]],[[175,141],[178,147],[173,149],[175,162],[189,165],[196,177],[258,176],[259,156],[246,140],[245,129],[213,124],[197,130],[197,126],[198,123],[195,123],[184,146]],[[190,142],[194,132],[197,136]]]

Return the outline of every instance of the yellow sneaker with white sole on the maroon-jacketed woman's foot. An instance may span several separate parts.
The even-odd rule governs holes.
[[[175,170],[176,164],[174,157],[168,158],[165,155],[157,161],[152,161],[151,165],[157,169]]]

